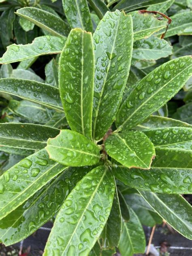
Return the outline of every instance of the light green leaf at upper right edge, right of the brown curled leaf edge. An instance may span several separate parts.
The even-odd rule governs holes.
[[[192,34],[192,11],[177,13],[171,16],[171,24],[165,34],[165,38],[174,35]],[[157,35],[161,34],[160,32]]]

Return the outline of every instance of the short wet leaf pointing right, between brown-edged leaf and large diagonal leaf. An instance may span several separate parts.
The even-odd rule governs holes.
[[[172,54],[172,46],[164,39],[151,36],[133,44],[132,64],[138,60],[158,60]]]

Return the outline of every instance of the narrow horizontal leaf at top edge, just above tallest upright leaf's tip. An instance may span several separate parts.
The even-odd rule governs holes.
[[[113,10],[124,10],[125,12],[134,11],[139,8],[147,7],[152,4],[159,4],[166,0],[122,0],[113,7]]]

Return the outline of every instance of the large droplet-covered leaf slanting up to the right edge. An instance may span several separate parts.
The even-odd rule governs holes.
[[[146,75],[117,113],[118,130],[130,129],[169,101],[192,75],[192,58],[171,60]]]

